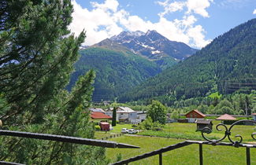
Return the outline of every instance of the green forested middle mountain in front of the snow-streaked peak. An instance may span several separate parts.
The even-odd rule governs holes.
[[[109,46],[114,46],[113,50]],[[93,101],[113,100],[132,87],[161,72],[161,68],[127,48],[115,46],[106,39],[98,45],[80,50],[80,59],[75,64],[75,72],[67,86],[68,90],[80,75],[90,69],[96,72]]]

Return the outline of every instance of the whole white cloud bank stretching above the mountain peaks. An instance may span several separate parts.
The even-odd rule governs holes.
[[[118,35],[124,30],[144,32],[156,30],[172,41],[184,42],[189,46],[202,48],[210,40],[205,39],[206,31],[203,27],[195,25],[197,19],[193,13],[208,17],[209,14],[206,12],[206,8],[210,6],[210,1],[192,1],[194,2],[191,2],[191,0],[171,3],[169,3],[169,0],[158,2],[160,6],[164,7],[165,11],[158,14],[158,22],[152,23],[149,20],[143,20],[139,16],[131,15],[124,9],[119,9],[120,6],[117,0],[105,0],[101,4],[91,2],[93,7],[91,10],[83,9],[75,0],[72,0],[74,13],[72,13],[73,20],[69,28],[76,35],[79,35],[83,29],[87,31],[84,45],[95,44],[105,38]],[[165,18],[165,14],[181,11],[185,6],[187,6],[187,10],[182,19],[168,20]]]

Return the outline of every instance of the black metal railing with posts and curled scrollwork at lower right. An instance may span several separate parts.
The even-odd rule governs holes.
[[[205,134],[210,134],[212,132],[212,130],[210,130],[210,128],[204,128],[204,129],[202,129],[202,138],[206,139],[206,141],[184,141],[184,142],[180,142],[176,145],[169,145],[168,147],[161,148],[161,149],[158,149],[158,150],[154,150],[153,152],[147,152],[147,153],[144,153],[142,155],[132,157],[130,159],[121,160],[117,163],[113,163],[113,165],[128,164],[128,163],[138,161],[140,159],[146,159],[148,157],[157,156],[157,155],[159,156],[159,165],[162,165],[162,153],[163,152],[169,152],[169,151],[175,150],[177,148],[182,148],[182,147],[185,147],[187,145],[193,145],[193,144],[198,144],[199,145],[199,156],[198,156],[198,158],[199,158],[199,164],[200,165],[203,164],[202,145],[214,145],[214,146],[224,145],[224,146],[230,146],[230,147],[236,147],[236,148],[238,148],[238,147],[246,148],[247,165],[250,165],[250,148],[256,148],[256,145],[243,144],[242,143],[243,137],[239,134],[235,136],[236,138],[239,138],[239,141],[233,141],[232,138],[231,138],[232,128],[235,127],[236,125],[238,125],[239,123],[245,123],[245,122],[256,123],[256,121],[253,121],[253,120],[243,119],[243,120],[237,121],[236,123],[233,123],[229,127],[229,129],[224,124],[220,123],[220,124],[217,124],[216,129],[218,131],[221,131],[220,127],[221,126],[224,127],[225,131],[224,131],[223,138],[220,138],[220,139],[217,139],[217,140],[215,140],[215,139],[211,140],[209,138],[206,138]],[[221,142],[227,137],[228,137],[229,142]],[[251,138],[256,140],[256,133],[251,134]]]

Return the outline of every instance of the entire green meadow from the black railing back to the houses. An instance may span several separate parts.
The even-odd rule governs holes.
[[[224,134],[223,131],[215,130],[218,122],[213,122],[213,133],[207,135],[209,138],[221,138]],[[117,125],[113,130],[107,134],[120,133],[121,128],[131,128],[132,125]],[[195,123],[170,123],[166,124],[161,131],[143,131],[140,134],[147,134],[149,136],[130,136],[124,135],[119,138],[111,138],[110,141],[117,141],[130,145],[138,145],[139,149],[131,148],[107,148],[106,156],[111,160],[111,163],[117,161],[117,156],[121,155],[121,159],[128,159],[133,156],[138,156],[145,152],[151,152],[155,149],[166,147],[190,140],[203,140],[200,132],[195,132]],[[232,139],[235,141],[234,136],[241,134],[243,142],[252,141],[250,134],[254,132],[252,126],[236,126],[232,129]],[[100,133],[97,133],[100,137]],[[102,134],[102,133],[101,133]],[[105,133],[104,133],[105,134]],[[158,136],[158,137],[156,137]],[[159,138],[171,137],[171,138]],[[227,146],[213,146],[203,145],[204,164],[246,164],[246,148],[235,148]],[[250,149],[251,164],[256,164],[256,148]],[[131,164],[158,164],[158,156],[153,156],[147,159],[139,160]],[[130,163],[129,163],[130,164]],[[171,152],[163,154],[163,164],[198,164],[198,145],[189,145],[184,148],[179,148]]]

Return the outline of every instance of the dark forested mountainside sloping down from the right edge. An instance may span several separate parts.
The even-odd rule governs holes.
[[[204,97],[256,90],[256,19],[231,29],[194,56],[120,96],[120,101]]]

